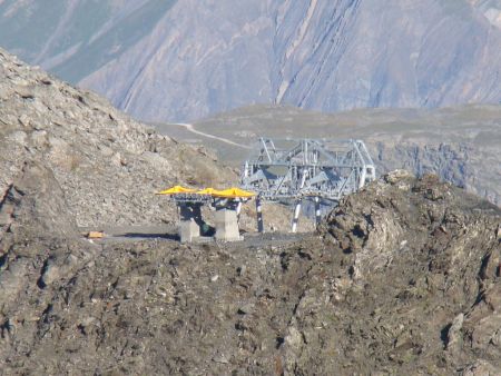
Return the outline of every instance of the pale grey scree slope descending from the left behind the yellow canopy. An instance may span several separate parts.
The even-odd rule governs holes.
[[[79,226],[173,221],[158,189],[235,179],[203,149],[0,50],[0,198],[31,161],[53,174]]]

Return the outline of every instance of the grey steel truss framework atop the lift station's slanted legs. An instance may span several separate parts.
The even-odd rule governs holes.
[[[261,138],[240,180],[264,200],[338,201],[375,180],[375,167],[361,140]]]

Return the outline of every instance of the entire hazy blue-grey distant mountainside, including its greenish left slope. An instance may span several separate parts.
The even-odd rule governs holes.
[[[0,44],[147,120],[501,101],[499,0],[0,0]],[[35,38],[36,37],[36,38]]]

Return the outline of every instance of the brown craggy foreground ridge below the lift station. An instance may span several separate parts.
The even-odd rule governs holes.
[[[278,247],[81,243],[53,190],[30,165],[2,201],[32,229],[1,240],[8,374],[501,367],[501,210],[433,176],[391,174],[343,200],[320,236]]]

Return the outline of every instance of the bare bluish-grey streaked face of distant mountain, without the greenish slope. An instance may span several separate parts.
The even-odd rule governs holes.
[[[151,120],[245,102],[334,111],[501,99],[501,30],[462,1],[258,4],[239,2],[245,16],[227,19],[234,2],[178,3],[155,37],[81,83]],[[128,77],[118,89],[117,77]]]

